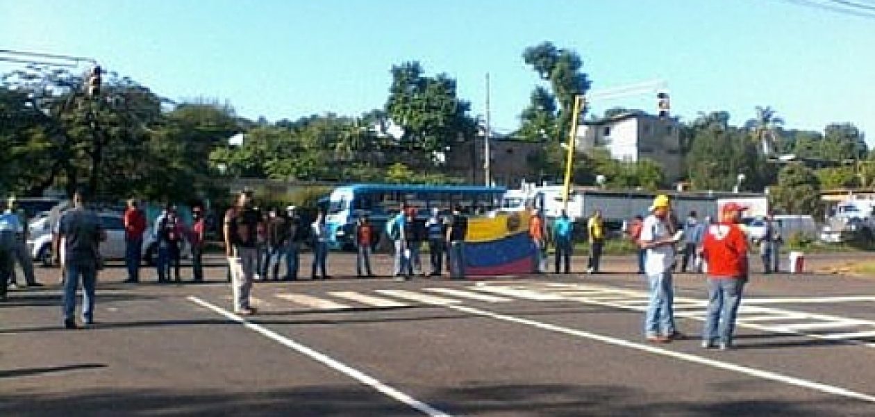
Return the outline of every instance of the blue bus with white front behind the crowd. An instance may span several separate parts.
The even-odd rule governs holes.
[[[328,196],[329,246],[332,249],[353,247],[353,225],[360,214],[370,217],[382,237],[386,222],[402,203],[416,208],[417,218],[428,217],[431,209],[446,212],[456,205],[469,214],[478,214],[497,209],[506,191],[504,187],[477,186],[352,184],[336,187]]]

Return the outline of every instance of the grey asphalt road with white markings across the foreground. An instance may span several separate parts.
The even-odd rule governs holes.
[[[110,265],[98,323],[73,331],[58,271],[40,269],[49,286],[0,304],[0,415],[875,415],[872,279],[754,276],[738,349],[718,351],[695,336],[693,274],[676,276],[690,337],[643,340],[630,258],[597,275],[409,282],[329,260],[335,279],[256,283],[247,318],[229,312],[220,258],[205,284],[148,270],[123,284]]]

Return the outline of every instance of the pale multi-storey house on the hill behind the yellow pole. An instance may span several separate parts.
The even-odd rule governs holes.
[[[676,119],[645,113],[624,113],[587,121],[577,133],[577,150],[604,148],[613,159],[651,159],[662,166],[666,180],[683,178],[680,129]]]

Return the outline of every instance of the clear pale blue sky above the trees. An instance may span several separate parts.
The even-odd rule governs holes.
[[[550,40],[581,55],[593,90],[662,79],[684,119],[742,124],[770,105],[788,127],[852,122],[875,144],[872,16],[786,0],[0,0],[0,49],[92,56],[160,95],[271,121],[380,108],[389,68],[419,60],[458,80],[473,115],[490,73],[493,127],[512,131],[539,82],[522,50]]]

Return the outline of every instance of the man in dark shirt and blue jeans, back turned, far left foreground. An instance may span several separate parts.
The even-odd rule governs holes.
[[[73,209],[60,219],[58,236],[52,253],[60,253],[64,242],[64,328],[76,329],[76,290],[82,281],[82,320],[91,325],[95,322],[95,284],[100,243],[106,240],[106,231],[95,212],[85,208],[81,192],[73,194]],[[58,256],[55,255],[57,263]]]

